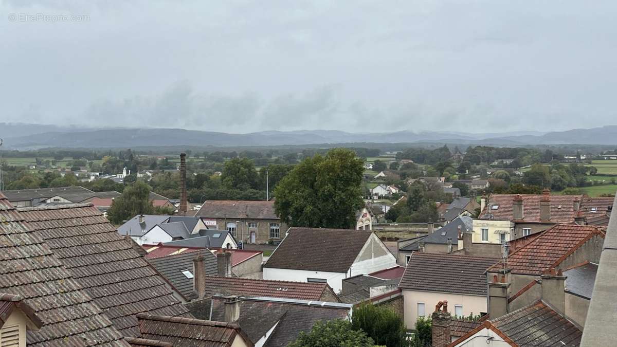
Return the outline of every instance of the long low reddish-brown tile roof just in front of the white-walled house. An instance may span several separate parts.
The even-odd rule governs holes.
[[[206,291],[210,295],[268,296],[300,300],[320,300],[325,291],[332,291],[328,283],[257,280],[253,278],[206,277]],[[334,295],[334,292],[332,292]]]

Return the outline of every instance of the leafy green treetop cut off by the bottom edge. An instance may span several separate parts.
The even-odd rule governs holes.
[[[373,339],[362,330],[354,330],[347,320],[318,321],[310,332],[300,336],[288,347],[373,347]]]

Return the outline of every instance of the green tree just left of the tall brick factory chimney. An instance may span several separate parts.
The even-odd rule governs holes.
[[[138,214],[154,214],[155,209],[150,200],[150,186],[139,180],[127,186],[122,195],[114,199],[107,211],[107,216],[113,224],[120,224],[123,220]]]

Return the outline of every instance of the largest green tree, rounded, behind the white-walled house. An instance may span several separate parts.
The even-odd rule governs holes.
[[[292,226],[351,228],[364,205],[363,171],[362,160],[349,149],[308,157],[276,186],[276,214]]]

